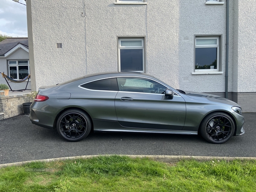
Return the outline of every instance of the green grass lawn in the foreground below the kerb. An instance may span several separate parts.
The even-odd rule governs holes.
[[[0,192],[254,192],[256,161],[99,156],[0,169]]]

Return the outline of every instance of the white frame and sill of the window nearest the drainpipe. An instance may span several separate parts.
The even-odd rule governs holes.
[[[197,45],[197,40],[200,40],[200,39],[204,39],[204,40],[207,40],[207,39],[216,39],[216,44],[205,44],[205,45]],[[196,63],[195,63],[195,54],[194,54],[194,72],[192,74],[223,74],[223,72],[221,71],[221,36],[198,36],[196,35],[195,36],[195,49],[196,48],[209,48],[209,47],[215,47],[217,48],[217,69],[199,69],[199,70],[196,70],[195,69],[195,66],[196,66]],[[195,52],[195,50],[194,50]]]

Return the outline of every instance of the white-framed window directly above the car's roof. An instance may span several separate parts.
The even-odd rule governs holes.
[[[144,73],[144,38],[119,38],[119,71]]]

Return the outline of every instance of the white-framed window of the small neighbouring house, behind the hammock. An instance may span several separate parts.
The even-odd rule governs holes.
[[[10,60],[8,61],[9,77],[12,79],[24,79],[29,75],[28,60]]]

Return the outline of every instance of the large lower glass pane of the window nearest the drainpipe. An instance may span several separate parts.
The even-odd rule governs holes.
[[[217,69],[217,48],[195,48],[195,69]]]

